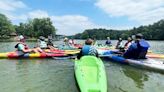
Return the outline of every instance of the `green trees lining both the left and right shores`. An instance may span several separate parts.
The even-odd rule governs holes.
[[[164,40],[164,20],[160,20],[152,25],[140,26],[131,30],[113,30],[113,29],[86,29],[83,33],[79,33],[71,38],[75,39],[118,39],[119,37],[127,39],[131,35],[142,33],[148,40]],[[50,18],[34,18],[28,19],[25,23],[13,25],[11,21],[3,14],[0,14],[0,38],[10,38],[10,34],[15,32],[17,35],[24,35],[31,38],[39,36],[56,35],[56,28]]]

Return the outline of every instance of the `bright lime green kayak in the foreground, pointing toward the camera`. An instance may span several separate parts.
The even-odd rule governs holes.
[[[104,64],[95,56],[83,56],[75,61],[75,77],[81,92],[107,92]]]

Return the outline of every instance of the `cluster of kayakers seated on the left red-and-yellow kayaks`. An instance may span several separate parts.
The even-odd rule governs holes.
[[[54,50],[56,49],[52,43],[52,39],[50,37],[48,37],[48,42],[45,41],[45,37],[40,36],[37,42],[36,47],[30,49],[28,47],[28,45],[25,43],[25,38],[20,35],[18,37],[19,42],[15,45],[15,48],[17,49],[16,51],[19,53],[19,55],[21,54],[25,54],[25,53],[30,53],[30,52],[34,52],[34,53],[44,53],[43,49],[51,49]]]

